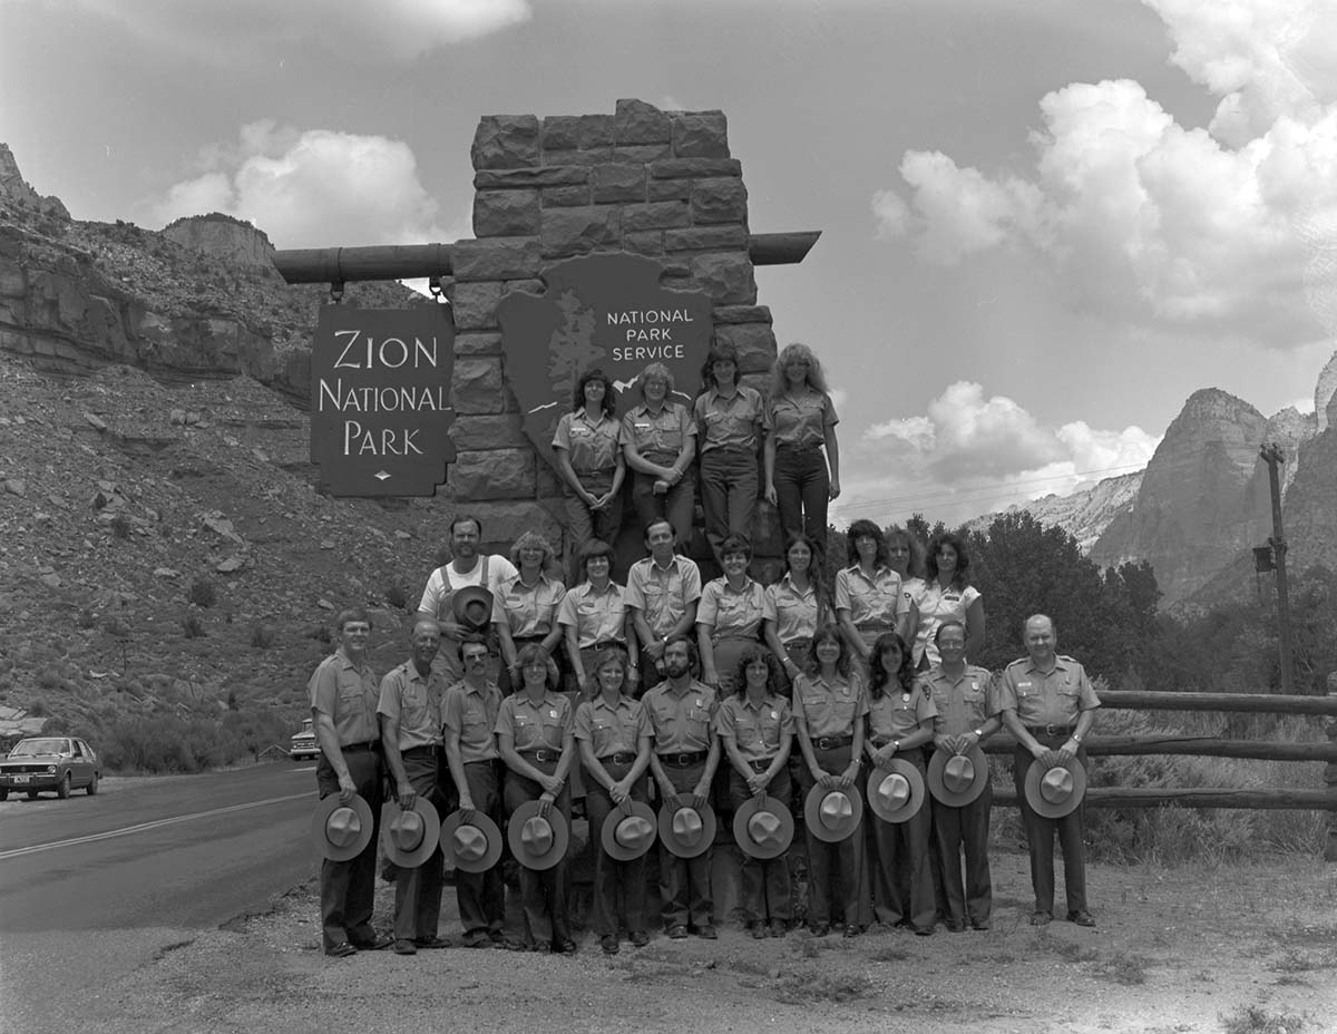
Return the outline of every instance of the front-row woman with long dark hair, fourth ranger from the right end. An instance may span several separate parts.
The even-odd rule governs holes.
[[[820,785],[857,793],[858,758],[864,750],[864,716],[868,696],[862,680],[850,671],[849,650],[834,625],[813,637],[816,666],[794,682],[794,725],[808,777],[804,791]],[[845,936],[860,930],[860,884],[864,868],[864,832],[828,843],[806,829],[808,837],[808,927],[814,936],[826,936],[833,919],[833,899],[840,895]]]

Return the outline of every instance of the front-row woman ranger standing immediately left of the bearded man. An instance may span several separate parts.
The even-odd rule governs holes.
[[[618,954],[618,931],[626,924],[638,948],[650,943],[646,932],[646,855],[619,861],[603,849],[603,824],[627,812],[631,803],[648,801],[646,769],[654,734],[639,701],[631,698],[627,655],[600,650],[591,667],[598,694],[576,708],[576,742],[584,762],[586,815],[594,855],[594,932],[606,955]],[[622,908],[619,908],[619,900]]]

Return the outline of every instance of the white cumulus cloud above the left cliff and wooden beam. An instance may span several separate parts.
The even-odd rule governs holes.
[[[249,219],[278,247],[427,243],[465,235],[436,225],[437,202],[408,144],[384,136],[243,126],[235,144],[207,150],[201,175],[154,206],[168,222],[223,211]]]

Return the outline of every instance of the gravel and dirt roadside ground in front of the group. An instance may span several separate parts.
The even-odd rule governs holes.
[[[1337,865],[1095,864],[1099,926],[1032,928],[1027,860],[993,859],[993,928],[794,931],[604,958],[451,948],[326,959],[314,883],[160,954],[90,1003],[106,1031],[1337,1031]],[[393,888],[378,884],[378,924]],[[448,888],[443,932],[459,935]],[[1251,1013],[1249,1010],[1253,1010]],[[1231,1026],[1245,1021],[1251,1026]],[[1270,1026],[1263,1026],[1270,1023]]]

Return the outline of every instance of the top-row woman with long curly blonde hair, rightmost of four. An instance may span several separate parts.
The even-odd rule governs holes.
[[[786,345],[762,411],[766,502],[779,508],[786,539],[802,531],[826,546],[826,504],[840,495],[838,423],[817,356],[808,345]]]

